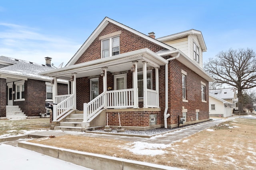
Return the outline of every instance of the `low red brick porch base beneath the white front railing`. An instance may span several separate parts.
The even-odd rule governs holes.
[[[110,126],[119,126],[118,113],[120,115],[121,126],[140,126],[140,127],[150,126],[150,122],[149,122],[150,114],[157,114],[157,125],[161,124],[160,111],[111,112],[111,110],[108,109],[106,113],[108,113],[108,125]]]

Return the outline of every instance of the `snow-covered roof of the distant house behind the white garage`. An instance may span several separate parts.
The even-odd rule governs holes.
[[[209,94],[212,94],[221,99],[236,99],[235,88],[221,88],[209,90]]]

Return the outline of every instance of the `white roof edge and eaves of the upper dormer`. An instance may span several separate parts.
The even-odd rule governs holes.
[[[198,31],[198,30],[195,30],[195,29],[190,29],[188,31],[183,31],[183,32],[180,32],[180,33],[175,33],[175,34],[172,34],[172,35],[167,35],[167,36],[164,36],[164,37],[160,37],[160,38],[157,38],[157,40],[163,42],[163,41],[180,39],[182,37],[187,37],[188,35],[196,35],[197,39],[200,43],[200,46],[202,48],[202,51],[203,52],[207,51],[202,32]]]

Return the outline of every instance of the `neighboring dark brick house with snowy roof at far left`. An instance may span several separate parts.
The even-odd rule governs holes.
[[[54,89],[52,78],[39,73],[56,69],[50,61],[46,57],[46,64],[36,64],[0,56],[0,119],[40,117],[46,113],[45,103],[53,102]],[[67,93],[68,82],[59,81],[58,94]]]

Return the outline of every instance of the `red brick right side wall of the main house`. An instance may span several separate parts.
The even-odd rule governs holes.
[[[186,100],[182,102],[182,73],[187,72],[186,76]],[[187,121],[196,120],[196,109],[200,109],[199,120],[209,118],[209,89],[208,82],[201,76],[190,70],[187,66],[177,60],[172,60],[168,64],[168,125],[178,123],[178,115],[182,115],[182,106],[188,109]],[[201,81],[206,83],[206,103],[201,100]]]

